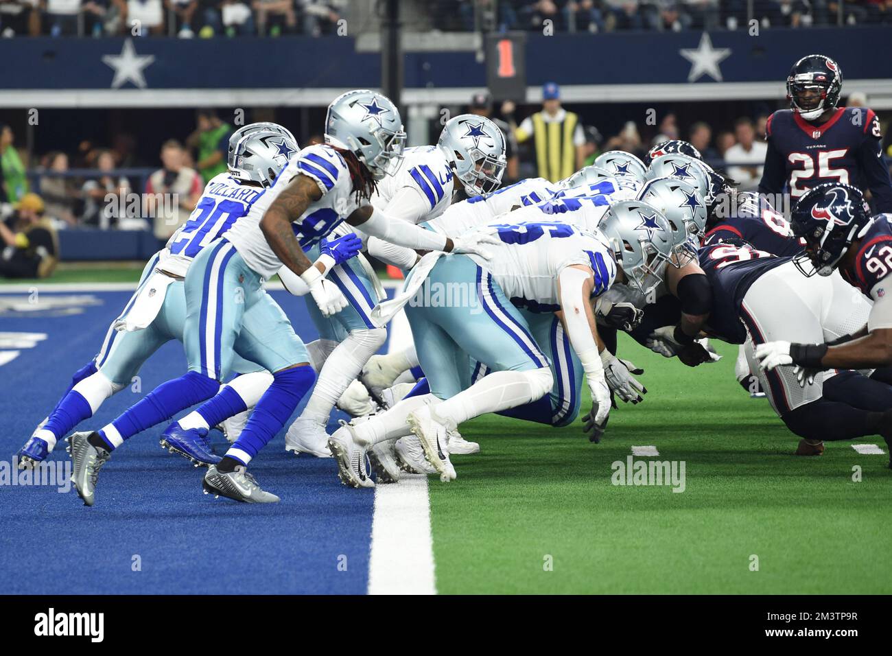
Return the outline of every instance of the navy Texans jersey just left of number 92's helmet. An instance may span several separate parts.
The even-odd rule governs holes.
[[[796,255],[803,244],[793,237],[789,221],[777,212],[764,196],[747,192],[734,198],[732,216],[720,219],[706,233],[703,245],[714,245],[734,239],[743,239],[757,251],[772,253],[778,257]]]

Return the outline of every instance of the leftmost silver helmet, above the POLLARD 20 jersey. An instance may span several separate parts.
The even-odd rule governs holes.
[[[270,187],[298,150],[297,142],[285,128],[254,129],[245,132],[231,147],[229,173],[235,179]]]

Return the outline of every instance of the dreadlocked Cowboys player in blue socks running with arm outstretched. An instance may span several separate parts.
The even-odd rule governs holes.
[[[72,478],[87,504],[111,453],[136,433],[217,394],[236,349],[272,372],[273,382],[235,444],[208,468],[202,486],[241,502],[278,501],[260,489],[247,465],[282,428],[316,376],[306,347],[262,282],[285,264],[324,314],[342,310],[346,300],[325,279],[335,259],[323,255],[310,262],[304,249],[344,220],[362,225],[369,235],[431,251],[480,251],[482,243],[493,240],[485,234],[451,240],[372,208],[368,201],[376,181],[399,169],[404,141],[400,113],[384,95],[358,90],[338,96],[328,107],[326,144],[294,154],[248,214],[231,223],[218,244],[198,253],[185,280],[188,373],[156,387],[101,430],[71,436]],[[215,401],[211,410],[219,418],[237,404],[227,388]],[[208,423],[219,418],[211,416]]]

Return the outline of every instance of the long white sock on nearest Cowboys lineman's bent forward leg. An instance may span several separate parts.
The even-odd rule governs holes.
[[[547,394],[553,385],[548,367],[528,371],[493,371],[463,392],[431,408],[434,419],[447,428],[456,428],[467,419],[532,403]]]

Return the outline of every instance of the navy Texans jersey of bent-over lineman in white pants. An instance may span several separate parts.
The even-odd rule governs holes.
[[[750,245],[714,244],[698,251],[700,268],[713,287],[713,310],[706,332],[723,342],[743,344],[747,329],[740,321],[740,304],[759,276],[789,262],[789,257],[756,250]]]

